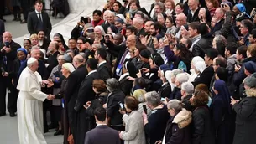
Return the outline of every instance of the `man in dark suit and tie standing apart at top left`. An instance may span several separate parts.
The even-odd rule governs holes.
[[[37,0],[34,8],[34,12],[29,13],[27,20],[29,33],[39,33],[40,30],[43,30],[47,39],[50,39],[51,23],[48,14],[42,12],[43,3]]]

